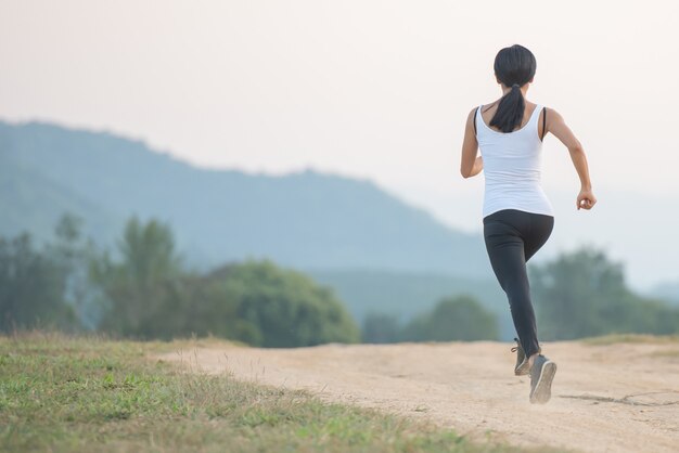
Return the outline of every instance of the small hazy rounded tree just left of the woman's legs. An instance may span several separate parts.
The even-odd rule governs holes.
[[[434,309],[414,318],[403,331],[412,341],[472,341],[498,339],[498,322],[471,296],[443,299]]]

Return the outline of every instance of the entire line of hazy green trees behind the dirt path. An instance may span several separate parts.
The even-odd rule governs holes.
[[[28,233],[0,237],[0,333],[53,328],[141,340],[215,336],[292,348],[496,340],[510,319],[507,305],[491,312],[477,298],[458,294],[410,319],[373,312],[359,328],[332,288],[299,271],[266,260],[192,269],[161,221],[132,217],[114,249],[95,245],[81,231],[81,221],[66,215],[49,243],[36,244]],[[623,266],[600,250],[561,254],[529,271],[542,340],[679,335],[679,307],[631,290]]]

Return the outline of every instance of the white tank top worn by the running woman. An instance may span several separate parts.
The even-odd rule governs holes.
[[[490,129],[476,112],[476,140],[484,159],[486,190],[483,216],[502,209],[553,216],[553,208],[540,184],[542,141],[538,134],[537,105],[528,122],[512,132]]]

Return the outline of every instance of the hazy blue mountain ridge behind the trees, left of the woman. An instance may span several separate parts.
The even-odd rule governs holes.
[[[46,237],[63,211],[107,244],[129,216],[158,218],[208,266],[267,257],[298,269],[489,271],[479,236],[369,181],[200,169],[106,132],[0,121],[0,234]]]

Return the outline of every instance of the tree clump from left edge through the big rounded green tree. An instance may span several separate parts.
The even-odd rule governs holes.
[[[0,333],[57,328],[134,339],[204,337],[261,347],[357,342],[344,303],[305,274],[266,260],[192,270],[169,225],[131,218],[117,248],[64,216],[53,242],[0,237]]]

